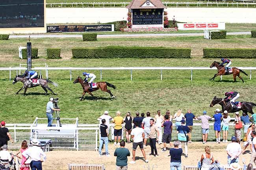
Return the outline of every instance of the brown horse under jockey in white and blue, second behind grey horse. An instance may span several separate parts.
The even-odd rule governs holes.
[[[112,98],[115,98],[115,96],[111,93],[111,91],[107,89],[107,86],[109,86],[109,87],[115,89],[115,86],[114,86],[113,84],[110,84],[110,83],[108,83],[108,82],[96,82],[97,87],[96,87],[96,88],[93,88],[93,89],[91,90],[91,88],[90,88],[88,82],[83,82],[83,79],[81,79],[80,76],[78,76],[78,77],[76,78],[76,80],[74,80],[73,83],[76,84],[76,83],[78,83],[78,82],[80,82],[81,86],[83,87],[83,95],[82,95],[80,101],[82,101],[83,96],[85,95],[86,92],[89,93],[89,94],[90,94],[92,97],[94,97],[96,100],[98,100],[98,98],[95,97],[91,92],[96,91],[96,90],[99,90],[99,89],[100,89],[101,91],[106,91],[106,92],[108,92]]]

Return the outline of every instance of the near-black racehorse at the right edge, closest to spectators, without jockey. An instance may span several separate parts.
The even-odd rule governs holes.
[[[233,108],[230,101],[226,102],[221,98],[216,98],[214,96],[213,100],[211,101],[210,107],[213,107],[215,104],[220,104],[222,110],[219,113],[224,112],[224,110],[228,111],[229,113],[238,112],[239,110],[243,110],[244,113],[251,113],[254,114],[252,109],[256,106],[255,103],[252,102],[241,102],[241,108]]]

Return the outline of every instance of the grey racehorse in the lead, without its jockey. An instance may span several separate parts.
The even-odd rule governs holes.
[[[52,91],[52,89],[50,89],[48,87],[48,83],[51,83],[53,84],[55,87],[58,86],[58,84],[56,84],[55,82],[52,82],[50,80],[46,80],[46,79],[37,79],[37,83],[36,84],[32,84],[32,82],[30,82],[28,79],[25,79],[24,75],[16,75],[16,77],[13,79],[13,84],[17,83],[18,81],[22,82],[23,83],[23,87],[20,88],[20,90],[24,89],[24,95],[26,94],[26,91],[28,88],[33,88],[33,87],[36,87],[36,86],[41,86],[43,88],[43,90],[45,90],[45,95],[47,95],[47,90],[50,90],[52,92],[52,94],[56,95],[56,93],[54,93]],[[16,94],[18,94],[19,91],[17,91]]]

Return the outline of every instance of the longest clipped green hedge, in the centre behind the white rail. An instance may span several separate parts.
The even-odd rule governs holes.
[[[75,48],[73,58],[190,58],[191,49],[163,47]]]

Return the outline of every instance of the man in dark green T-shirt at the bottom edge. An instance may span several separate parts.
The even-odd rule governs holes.
[[[127,148],[124,148],[125,142],[122,140],[120,142],[120,148],[116,148],[114,152],[114,156],[117,157],[117,162],[116,162],[116,168],[117,170],[127,170],[128,165],[127,165],[127,157],[130,156],[130,152]]]

